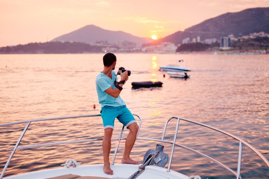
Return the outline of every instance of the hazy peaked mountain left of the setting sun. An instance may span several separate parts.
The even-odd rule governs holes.
[[[152,40],[149,38],[136,37],[123,31],[105,30],[94,25],[88,25],[68,34],[61,35],[60,37],[53,39],[52,42],[73,41],[91,44],[95,43],[96,41],[105,40],[116,45],[118,45],[119,41],[131,41],[135,42],[137,47],[144,43],[152,42]]]

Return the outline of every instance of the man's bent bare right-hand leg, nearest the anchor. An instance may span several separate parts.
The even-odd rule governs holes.
[[[132,160],[130,158],[130,153],[133,148],[135,139],[136,139],[136,134],[138,131],[138,125],[137,123],[132,123],[128,126],[129,128],[129,134],[127,135],[126,141],[125,141],[125,149],[123,153],[123,157],[121,160],[121,163],[130,163],[130,164],[139,164],[138,162]]]

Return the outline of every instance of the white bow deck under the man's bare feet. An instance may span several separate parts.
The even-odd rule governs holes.
[[[91,177],[104,177],[104,178],[114,178],[114,179],[127,179],[132,176],[136,171],[139,170],[140,165],[134,164],[114,164],[111,165],[113,170],[113,175],[107,175],[103,171],[103,164],[94,164],[94,165],[81,165],[76,168],[56,168],[48,169],[41,171],[34,171],[30,173],[20,174],[16,176],[4,177],[4,179],[45,179],[56,176],[62,176],[67,174],[80,175],[80,176],[91,176]],[[177,178],[177,179],[187,179],[189,178],[186,175],[181,173],[170,171],[167,172],[167,169],[157,166],[146,166],[143,173],[141,173],[137,179],[167,179],[167,178]]]

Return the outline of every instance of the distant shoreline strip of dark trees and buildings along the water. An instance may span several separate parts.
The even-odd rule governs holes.
[[[82,42],[45,42],[45,43],[29,43],[24,45],[16,46],[5,46],[0,47],[0,54],[91,54],[91,53],[156,53],[156,54],[268,54],[269,48],[253,46],[253,47],[233,47],[228,50],[221,50],[218,46],[209,47],[204,44],[198,43],[200,46],[195,46],[196,44],[190,44],[188,48],[176,49],[174,51],[162,51],[158,48],[151,48],[150,51],[143,51],[141,48],[130,48],[122,49],[119,46],[99,46],[99,45],[90,45]],[[185,44],[183,44],[185,45]],[[181,46],[183,46],[181,45]],[[193,46],[192,46],[193,45]],[[215,44],[216,45],[216,44]],[[179,47],[181,47],[179,46]],[[207,48],[202,48],[202,47]],[[179,48],[178,47],[178,48]],[[197,48],[196,48],[197,47]]]

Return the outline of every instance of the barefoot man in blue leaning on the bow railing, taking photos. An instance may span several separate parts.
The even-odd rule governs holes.
[[[130,131],[125,141],[125,150],[121,163],[139,164],[130,158],[130,152],[136,140],[138,125],[132,113],[126,108],[125,102],[119,94],[123,89],[123,84],[128,80],[127,70],[122,73],[121,81],[118,80],[114,72],[116,66],[116,56],[113,53],[107,53],[103,57],[104,69],[99,73],[95,80],[99,103],[101,104],[101,117],[104,124],[104,139],[102,143],[104,154],[104,173],[113,175],[113,170],[110,168],[109,153],[111,149],[111,137],[114,128],[114,120],[117,118]]]

